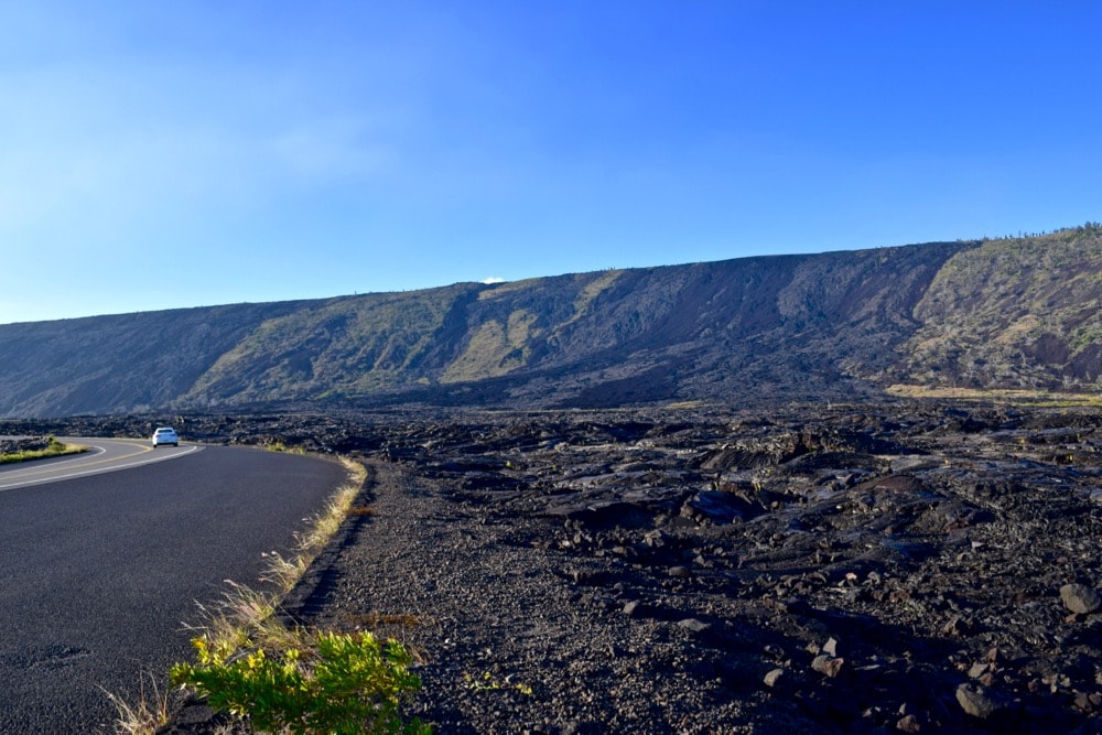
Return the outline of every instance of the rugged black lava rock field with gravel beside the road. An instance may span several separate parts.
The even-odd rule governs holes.
[[[1096,411],[177,424],[361,458],[287,613],[420,651],[437,732],[1102,733]]]

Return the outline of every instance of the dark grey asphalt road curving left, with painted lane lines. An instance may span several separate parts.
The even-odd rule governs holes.
[[[0,472],[0,733],[111,732],[104,690],[136,701],[151,677],[163,687],[191,658],[196,603],[225,580],[261,586],[261,553],[288,552],[346,477],[336,462],[259,450],[116,444],[134,454],[25,465],[21,487]],[[47,468],[69,477],[28,474]]]

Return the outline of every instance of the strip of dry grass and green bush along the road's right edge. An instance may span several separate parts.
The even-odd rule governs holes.
[[[217,712],[247,718],[258,732],[307,734],[428,734],[418,720],[404,722],[401,704],[421,688],[410,671],[414,655],[396,640],[370,633],[356,635],[291,627],[279,602],[299,582],[341,523],[364,506],[354,506],[366,479],[359,463],[342,460],[349,479],[325,508],[296,534],[290,558],[264,554],[261,575],[270,592],[227,581],[228,590],[202,606],[203,623],[193,626],[195,662],[170,672],[173,687],[191,690]],[[116,733],[152,735],[168,724],[170,696],[156,688],[137,705],[108,694],[118,712]]]

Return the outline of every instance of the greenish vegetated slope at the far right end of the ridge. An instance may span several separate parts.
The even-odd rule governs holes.
[[[1102,385],[1102,228],[992,240],[954,256],[915,310],[899,377],[974,388]]]

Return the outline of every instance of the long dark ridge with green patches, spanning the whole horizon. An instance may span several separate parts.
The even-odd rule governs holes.
[[[0,417],[1088,389],[1102,234],[0,325]]]

